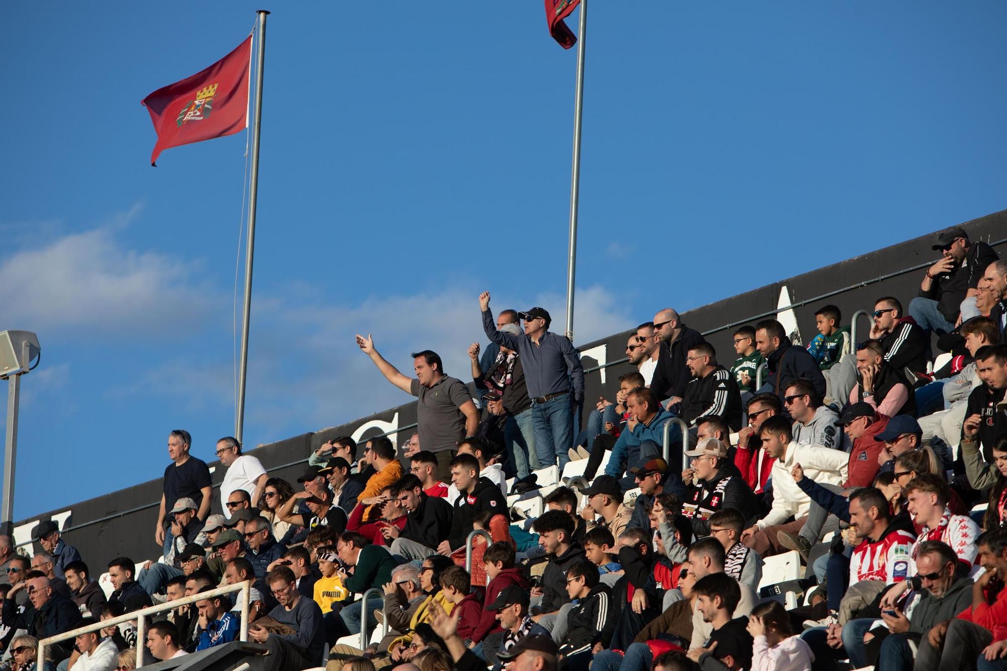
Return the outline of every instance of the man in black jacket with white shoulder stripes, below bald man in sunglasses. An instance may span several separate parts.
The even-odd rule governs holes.
[[[732,430],[741,428],[741,392],[730,371],[717,364],[717,352],[709,343],[689,348],[686,368],[692,380],[686,385],[680,416],[690,426],[700,417],[716,415]]]

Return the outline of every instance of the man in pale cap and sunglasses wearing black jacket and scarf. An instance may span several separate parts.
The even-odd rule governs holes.
[[[744,528],[758,519],[755,495],[745,484],[741,472],[727,458],[727,446],[716,438],[703,438],[696,449],[686,452],[691,467],[682,480],[692,483],[689,497],[682,502],[682,514],[692,520],[697,538],[710,535],[710,516],[725,508],[736,508],[748,515]]]

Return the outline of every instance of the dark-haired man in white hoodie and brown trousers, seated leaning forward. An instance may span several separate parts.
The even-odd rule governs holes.
[[[794,440],[790,422],[785,417],[769,417],[759,429],[766,456],[772,464],[772,508],[761,520],[741,532],[741,542],[765,557],[783,552],[777,532],[797,533],[804,525],[811,499],[794,482],[790,471],[800,463],[805,476],[822,485],[841,487],[847,480],[850,455],[821,445],[799,445]],[[786,522],[788,517],[794,522]],[[784,524],[784,522],[786,522]],[[831,529],[824,529],[824,532]]]

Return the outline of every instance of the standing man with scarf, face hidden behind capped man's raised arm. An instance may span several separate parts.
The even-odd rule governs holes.
[[[497,325],[499,330],[512,336],[521,334],[521,326],[516,323]],[[493,347],[497,351],[496,356],[483,368],[479,361],[478,343],[469,346],[472,382],[489,412],[491,423],[503,433],[509,468],[514,468],[514,475],[521,479],[540,465],[535,453],[532,399],[528,396],[521,357],[502,345],[493,344]]]

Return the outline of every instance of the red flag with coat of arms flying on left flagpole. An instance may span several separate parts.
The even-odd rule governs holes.
[[[168,147],[210,140],[248,128],[252,36],[212,65],[143,99],[157,131],[154,165]]]

